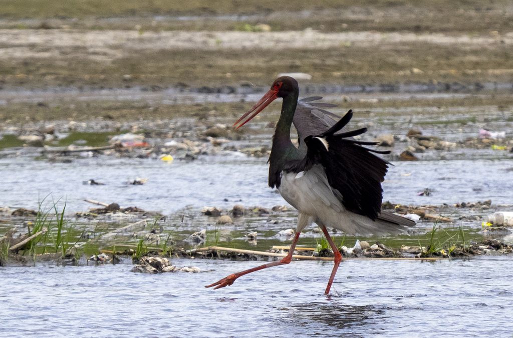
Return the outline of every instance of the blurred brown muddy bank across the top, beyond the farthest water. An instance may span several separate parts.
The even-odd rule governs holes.
[[[511,81],[506,1],[7,2],[0,84],[53,89]],[[260,25],[259,25],[260,24]]]

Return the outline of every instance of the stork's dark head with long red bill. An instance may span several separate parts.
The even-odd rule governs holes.
[[[266,108],[269,103],[279,97],[287,97],[288,95],[298,92],[299,86],[298,81],[290,76],[280,76],[272,82],[271,89],[262,96],[251,109],[244,115],[242,115],[233,126],[235,129],[241,128],[244,124],[249,122],[253,117],[257,116],[261,111]],[[249,117],[248,117],[249,116]],[[247,117],[247,119],[246,119]]]

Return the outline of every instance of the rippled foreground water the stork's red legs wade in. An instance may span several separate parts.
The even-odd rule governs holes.
[[[203,273],[129,272],[130,264],[0,268],[0,335],[508,336],[511,259],[292,262],[205,289],[258,262],[174,260]]]

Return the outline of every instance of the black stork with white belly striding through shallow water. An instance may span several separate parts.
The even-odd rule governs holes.
[[[298,209],[295,236],[287,256],[280,261],[230,274],[206,287],[219,289],[233,284],[244,274],[290,263],[301,231],[314,222],[322,229],[334,254],[334,266],[325,291],[328,294],[342,255],[329,236],[327,226],[350,235],[384,235],[415,225],[409,219],[381,210],[381,182],[390,163],[372,153],[389,152],[368,149],[364,145],[377,143],[353,138],[367,129],[347,131],[344,128],[352,117],[351,110],[339,118],[322,109],[333,105],[313,102],[321,97],[298,101],[299,87],[294,78],[277,78],[262,99],[233,126],[240,128],[279,97],[283,98],[283,103],[272,138],[269,186],[278,188],[282,197]],[[290,139],[292,123],[298,132],[299,147]]]

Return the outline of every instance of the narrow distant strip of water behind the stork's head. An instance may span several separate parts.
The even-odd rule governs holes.
[[[354,100],[376,99],[404,100],[415,95],[416,98],[456,98],[476,95],[509,94],[513,91],[513,83],[482,83],[484,90],[476,90],[473,86],[451,88],[447,90],[446,83],[429,85],[426,83],[406,83],[401,85],[375,85],[375,86],[345,86],[345,85],[307,85],[304,86],[301,96],[322,95],[325,100],[340,102],[340,94],[351,94]],[[456,84],[456,86],[458,86]],[[74,87],[54,87],[47,90],[10,89],[0,91],[0,104],[40,102],[51,100],[114,100],[161,102],[163,104],[194,104],[207,102],[256,102],[267,91],[267,87],[219,87],[210,88],[212,93],[205,93],[202,89],[184,90],[180,88],[167,88],[161,91],[151,91],[145,87],[116,88],[116,89],[78,89]],[[370,95],[369,95],[370,94]]]

